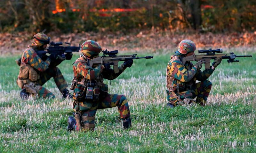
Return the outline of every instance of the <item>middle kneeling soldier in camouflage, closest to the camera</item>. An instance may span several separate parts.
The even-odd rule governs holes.
[[[125,61],[114,73],[109,64],[89,66],[89,60],[99,57],[102,52],[100,45],[93,41],[85,41],[80,51],[82,55],[74,62],[74,78],[71,85],[73,90],[73,109],[75,119],[68,117],[68,130],[94,130],[95,113],[97,109],[118,108],[124,128],[131,127],[130,109],[124,95],[109,94],[108,85],[103,83],[103,78],[113,80],[118,77],[127,67],[131,67],[133,60]]]

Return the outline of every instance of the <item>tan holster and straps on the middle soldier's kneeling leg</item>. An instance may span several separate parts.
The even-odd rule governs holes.
[[[86,115],[80,115],[80,113],[75,113],[76,126],[78,130],[88,131],[94,130],[95,124],[90,124],[89,120],[95,120],[95,117],[88,117]]]

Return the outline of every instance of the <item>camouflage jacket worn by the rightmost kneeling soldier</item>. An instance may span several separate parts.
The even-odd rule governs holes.
[[[197,71],[192,62],[182,63],[181,55],[175,52],[171,56],[171,60],[166,69],[167,89],[169,91],[176,91],[179,88],[180,92],[191,90],[196,80],[204,81],[211,76],[213,69],[205,69],[204,71]]]

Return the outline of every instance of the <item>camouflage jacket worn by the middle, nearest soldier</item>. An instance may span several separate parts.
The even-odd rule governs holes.
[[[80,83],[76,84],[76,86],[74,87],[73,95],[75,97],[76,93],[78,93],[78,97],[81,97],[80,99],[84,99],[83,97],[86,93],[83,91],[86,91],[85,86],[87,82],[95,81],[95,86],[99,87],[100,91],[108,92],[108,85],[103,83],[103,78],[113,80],[125,70],[124,65],[122,64],[119,67],[119,72],[115,74],[113,69],[104,71],[103,65],[93,65],[92,67],[90,67],[87,64],[87,60],[89,59],[84,59],[84,57],[80,56],[73,64],[74,79],[76,79],[76,81]],[[81,84],[83,84],[84,86]]]

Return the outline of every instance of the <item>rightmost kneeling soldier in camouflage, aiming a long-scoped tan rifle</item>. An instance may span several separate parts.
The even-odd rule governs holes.
[[[215,59],[211,69],[201,71],[204,61],[199,61],[195,65],[191,62],[182,62],[182,57],[195,54],[196,45],[193,41],[182,40],[177,48],[166,69],[167,107],[196,103],[204,106],[212,88],[212,83],[207,79],[222,59]],[[201,82],[196,83],[196,80]]]

